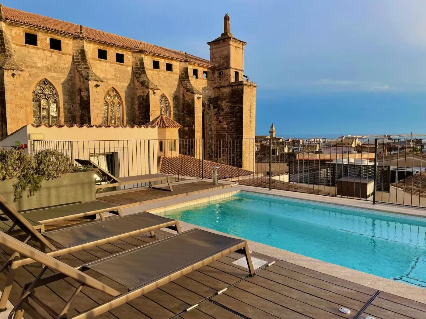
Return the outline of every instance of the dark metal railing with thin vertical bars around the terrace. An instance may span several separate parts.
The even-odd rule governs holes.
[[[176,139],[33,141],[92,159],[118,177],[163,173],[241,185],[426,207],[423,139]],[[138,187],[140,185],[131,185]]]

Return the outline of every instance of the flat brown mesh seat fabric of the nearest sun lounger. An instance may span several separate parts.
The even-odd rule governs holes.
[[[85,265],[132,290],[231,248],[242,239],[195,228]]]

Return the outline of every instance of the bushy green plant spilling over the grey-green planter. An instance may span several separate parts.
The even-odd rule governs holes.
[[[28,197],[41,188],[44,179],[56,179],[61,174],[94,171],[93,168],[73,165],[71,159],[55,150],[43,150],[34,156],[15,149],[0,149],[0,179],[16,178],[13,185],[14,201],[22,198],[28,189]]]

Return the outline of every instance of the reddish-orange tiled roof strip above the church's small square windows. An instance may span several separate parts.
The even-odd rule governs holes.
[[[8,20],[8,21],[12,21],[12,22],[16,22],[16,23],[22,23],[22,24],[29,25],[29,26],[35,26],[37,28],[43,28],[43,29],[47,29],[47,30],[57,31],[57,32],[60,32],[60,33],[63,33],[63,34],[69,34],[69,35],[72,35],[72,36],[78,36],[79,35],[80,26],[75,24],[75,23],[71,23],[71,22],[67,22],[67,21],[64,21],[64,20],[59,20],[59,19],[55,19],[55,18],[51,18],[51,17],[46,17],[46,16],[43,16],[41,14],[27,12],[27,11],[23,11],[23,10],[19,10],[19,9],[4,7],[4,6],[2,7],[2,9],[3,9],[3,12],[5,14],[6,20]],[[20,14],[21,16],[28,15],[29,17],[38,18],[40,20],[48,19],[48,20],[50,20],[49,21],[50,23],[63,23],[64,27],[63,28],[59,28],[59,27],[55,28],[54,26],[46,26],[46,24],[48,24],[48,22],[46,22],[45,24],[31,22],[31,21],[29,21],[29,19],[25,20],[21,17],[13,17],[13,14],[15,14],[15,15]],[[11,17],[11,15],[12,15],[12,17]],[[155,44],[146,43],[146,42],[143,42],[143,41],[131,39],[129,37],[124,37],[124,36],[121,36],[121,35],[113,34],[113,33],[107,32],[107,31],[101,31],[101,30],[98,30],[98,29],[95,29],[95,28],[89,28],[89,27],[86,27],[86,26],[83,26],[83,33],[84,33],[85,37],[89,40],[95,40],[95,41],[98,41],[98,42],[101,42],[101,43],[106,43],[106,44],[109,44],[109,45],[112,45],[112,46],[118,46],[118,47],[122,47],[122,48],[128,48],[128,49],[131,49],[131,50],[138,50],[139,43],[142,43],[144,45],[143,49],[147,53],[165,56],[165,57],[170,57],[170,58],[174,58],[174,59],[178,59],[178,60],[184,60],[184,52],[178,51],[178,50],[175,50],[175,49],[164,48],[162,46],[157,46]],[[100,34],[96,34],[96,33],[100,33]],[[96,35],[117,37],[117,40],[124,40],[126,43],[124,44],[124,43],[109,41],[109,40],[106,40],[106,39],[102,39],[100,37],[96,37]],[[149,48],[150,46],[152,46],[153,48],[150,49]],[[165,51],[165,52],[161,52],[161,51]],[[170,54],[167,54],[167,52],[170,52]],[[203,59],[201,57],[197,57],[197,56],[192,55],[192,54],[188,54],[188,56],[190,57],[190,60],[193,63],[204,64],[206,66],[215,66],[209,60]]]

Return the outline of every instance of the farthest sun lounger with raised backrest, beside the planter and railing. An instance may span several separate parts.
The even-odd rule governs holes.
[[[84,166],[92,166],[98,171],[101,172],[102,177],[107,181],[107,184],[103,185],[96,185],[96,192],[100,192],[104,190],[107,187],[113,187],[113,186],[121,186],[121,185],[130,185],[130,184],[138,184],[138,183],[146,183],[148,182],[150,184],[151,188],[157,188],[154,187],[153,182],[161,182],[161,181],[167,181],[167,184],[169,185],[169,190],[173,191],[172,184],[170,182],[171,176],[167,174],[146,174],[146,175],[138,175],[138,176],[128,176],[128,177],[115,177],[112,174],[109,174],[107,171],[105,171],[103,168],[101,168],[99,165],[96,165],[94,162],[86,160],[86,159],[75,159],[78,164],[84,165]],[[161,190],[165,190],[164,188],[157,188]]]

